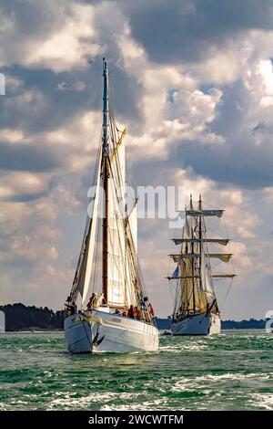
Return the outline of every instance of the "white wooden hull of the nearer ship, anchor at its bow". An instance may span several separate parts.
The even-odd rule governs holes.
[[[157,351],[155,326],[100,310],[86,314],[87,319],[78,313],[65,319],[66,343],[71,353]]]

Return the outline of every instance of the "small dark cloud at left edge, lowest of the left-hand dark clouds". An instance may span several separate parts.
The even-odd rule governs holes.
[[[60,165],[60,159],[45,146],[0,142],[0,169],[42,173]]]

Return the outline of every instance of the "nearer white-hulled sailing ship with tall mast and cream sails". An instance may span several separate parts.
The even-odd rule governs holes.
[[[95,193],[66,300],[65,337],[72,353],[157,351],[158,331],[136,254],[137,201],[128,211],[125,199],[126,129],[119,133],[116,128],[105,58],[103,80],[103,127]]]

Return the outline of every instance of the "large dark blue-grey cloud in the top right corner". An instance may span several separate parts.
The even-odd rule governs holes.
[[[246,29],[273,26],[271,0],[124,2],[133,37],[158,62],[198,61]]]

